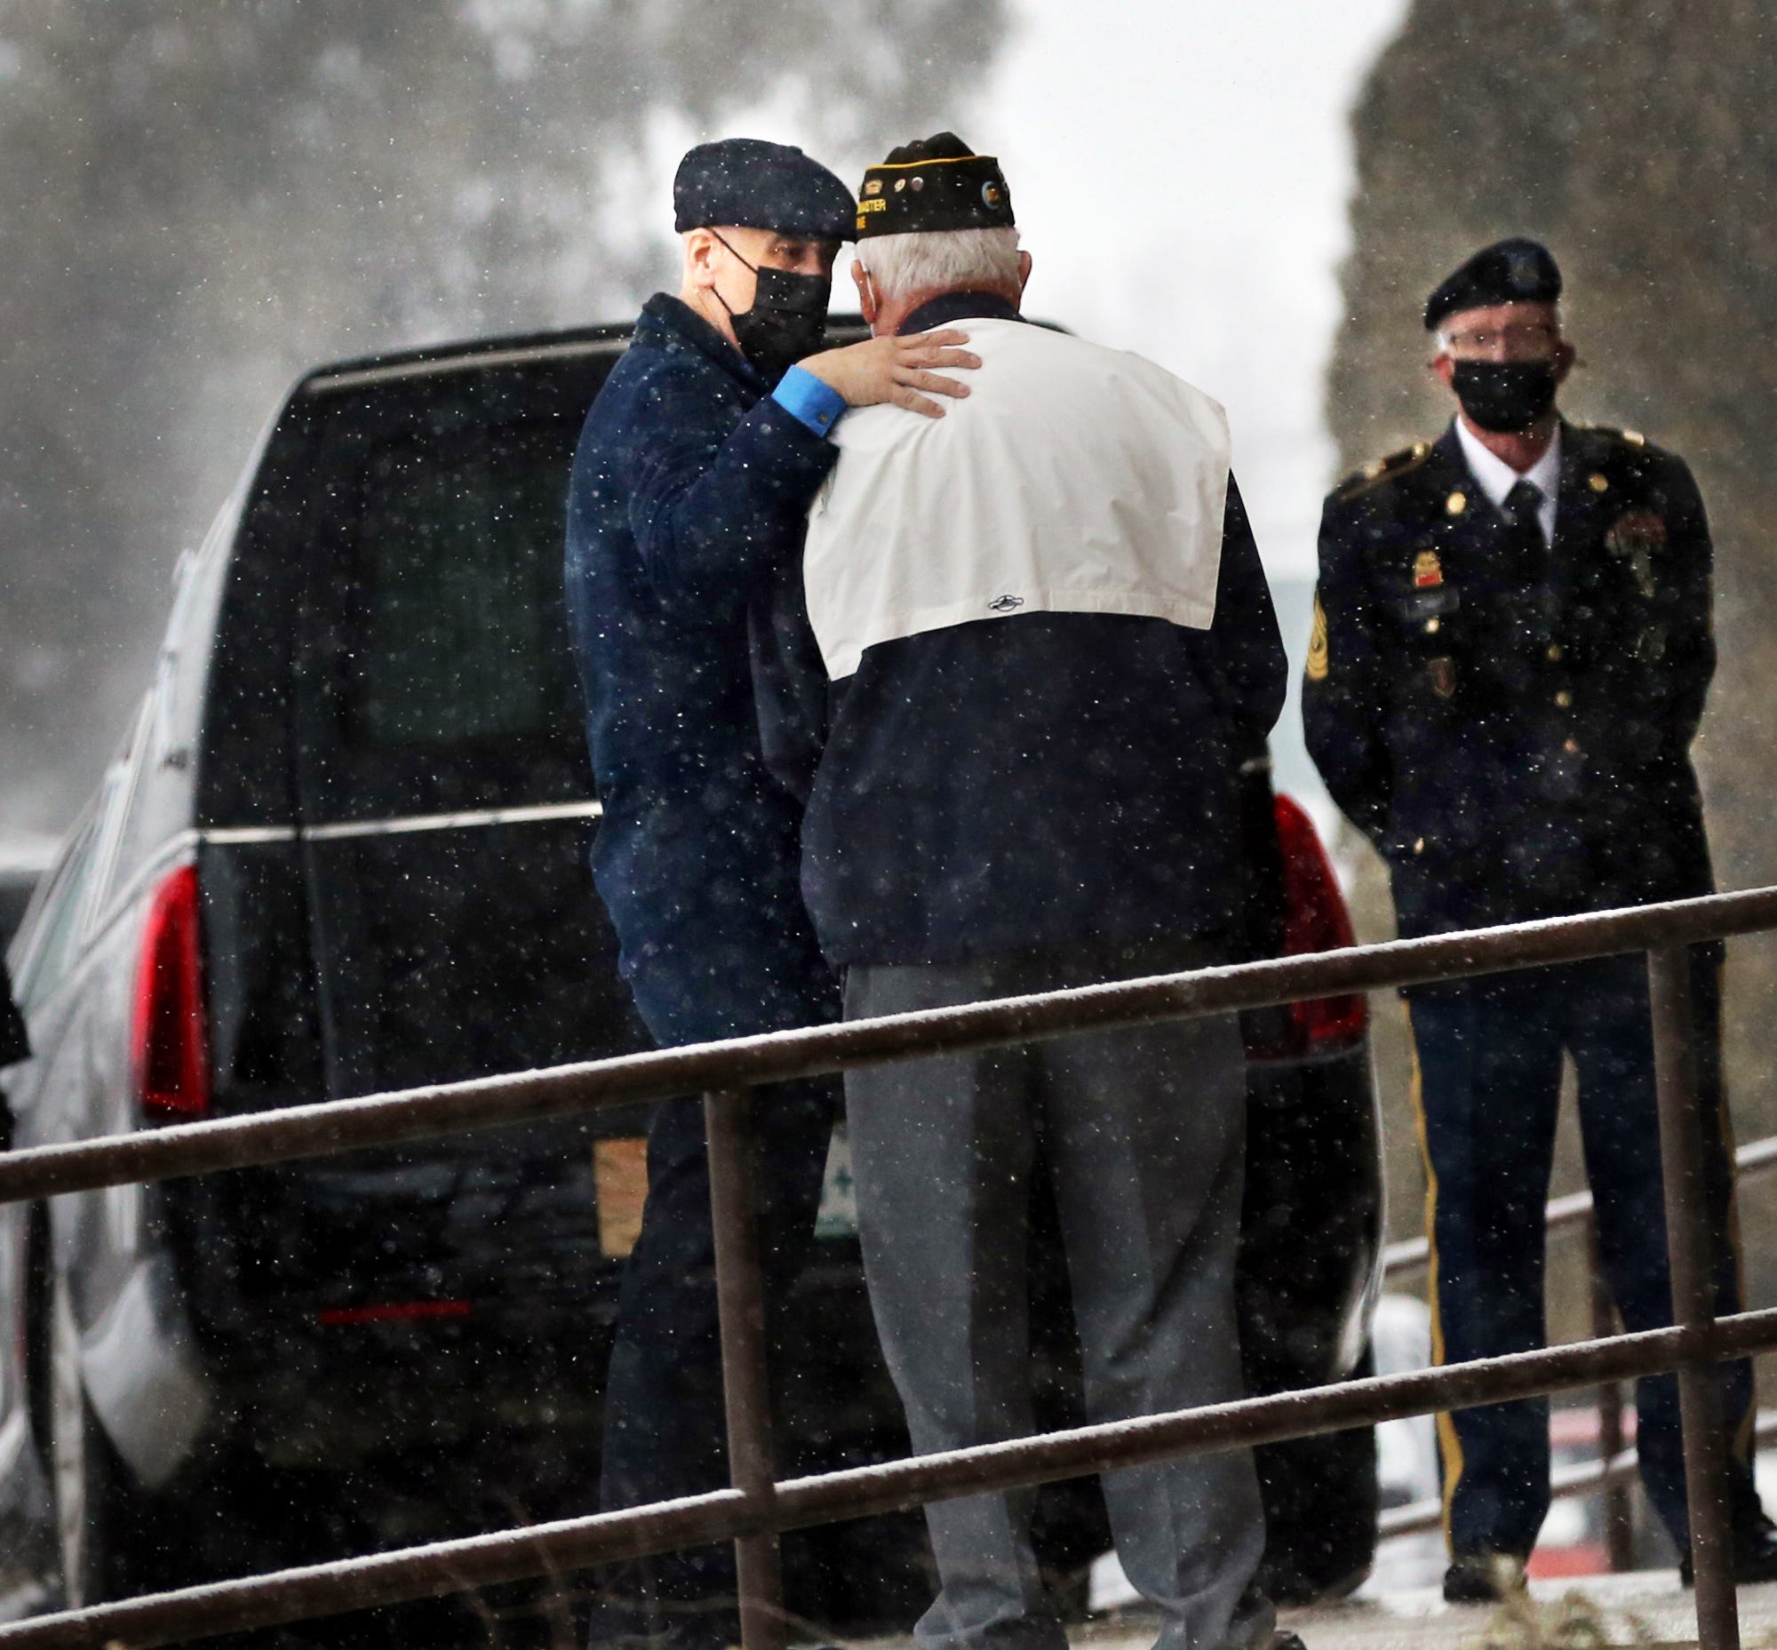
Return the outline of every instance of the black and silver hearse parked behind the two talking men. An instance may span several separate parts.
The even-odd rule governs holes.
[[[153,685],[11,949],[20,1145],[647,1045],[586,871],[560,589],[574,441],[626,338],[297,384],[181,564]],[[1249,781],[1255,951],[1349,941],[1262,754]],[[1363,1355],[1375,1101],[1361,999],[1253,1017],[1249,1042],[1247,1362],[1278,1390]],[[643,1131],[601,1113],[0,1207],[0,1609],[588,1510]],[[782,1421],[803,1470],[906,1453],[844,1188],[839,1140],[796,1351],[819,1398]],[[1274,1584],[1351,1584],[1370,1438],[1292,1449],[1267,1454]],[[1089,1495],[1056,1506],[1057,1565],[1107,1545]],[[844,1579],[846,1542],[873,1577],[910,1554],[912,1581]],[[912,1517],[789,1565],[837,1627],[924,1586]]]

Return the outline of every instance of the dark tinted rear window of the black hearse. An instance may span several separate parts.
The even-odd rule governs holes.
[[[562,610],[579,416],[512,412],[414,395],[334,416],[297,669],[309,820],[592,797]]]

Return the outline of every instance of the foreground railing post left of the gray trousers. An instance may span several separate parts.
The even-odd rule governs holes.
[[[729,1421],[729,1479],[769,1517],[777,1497],[771,1389],[766,1378],[766,1298],[759,1275],[759,1205],[748,1122],[750,1093],[704,1095],[709,1133],[709,1211],[716,1232],[716,1309],[721,1319],[721,1394]],[[737,1536],[734,1574],[745,1650],[784,1646],[784,1565],[775,1531]]]

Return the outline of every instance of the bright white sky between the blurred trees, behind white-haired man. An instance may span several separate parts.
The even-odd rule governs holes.
[[[1347,114],[1406,0],[1018,0],[972,130],[1006,167],[1032,313],[1221,400],[1274,574],[1308,576],[1333,446]],[[1292,638],[1294,640],[1294,638]]]

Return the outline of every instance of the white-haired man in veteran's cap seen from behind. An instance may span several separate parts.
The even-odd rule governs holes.
[[[1283,702],[1271,596],[1207,395],[1027,325],[999,164],[952,133],[865,174],[855,277],[878,336],[968,320],[949,416],[860,409],[809,517],[828,702],[803,896],[848,1019],[1215,962],[1235,786]],[[936,439],[933,439],[936,437]],[[1027,1207],[1050,1175],[1086,1405],[1240,1394],[1233,1015],[849,1072],[864,1259],[920,1453],[1034,1430]],[[1169,1650],[1269,1643],[1246,1451],[1107,1474]],[[1063,1650],[1031,1495],[928,1508],[928,1646]]]

